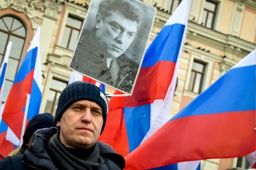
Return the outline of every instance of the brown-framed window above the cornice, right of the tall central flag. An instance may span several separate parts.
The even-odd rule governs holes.
[[[203,9],[203,16],[202,16],[202,24],[204,27],[213,29],[216,11],[217,11],[217,3],[206,0]]]

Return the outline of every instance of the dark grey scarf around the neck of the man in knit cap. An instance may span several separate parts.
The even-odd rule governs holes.
[[[49,140],[47,152],[52,158],[54,165],[57,165],[61,170],[94,170],[101,169],[102,164],[98,163],[99,147],[95,143],[93,153],[82,160],[70,154],[61,144],[57,134]]]

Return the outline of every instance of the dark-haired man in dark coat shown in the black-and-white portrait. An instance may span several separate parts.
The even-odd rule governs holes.
[[[130,93],[139,64],[125,52],[138,32],[140,21],[140,10],[131,1],[102,0],[93,29],[84,30],[77,45],[76,50],[80,51],[77,53],[83,53],[88,61],[83,67],[90,69],[82,73]]]

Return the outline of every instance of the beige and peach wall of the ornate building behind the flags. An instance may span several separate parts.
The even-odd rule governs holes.
[[[152,6],[156,4],[159,7],[148,45],[171,16],[171,5],[174,1],[178,0],[147,0],[147,3]],[[0,1],[0,18],[12,15],[26,24],[27,37],[20,63],[23,61],[36,29],[39,26],[42,28],[40,50],[43,96],[40,112],[43,113],[49,107],[53,83],[60,81],[65,85],[71,74],[68,65],[73,51],[62,47],[62,39],[66,36],[64,31],[67,18],[72,15],[77,19],[84,19],[90,1],[75,0],[75,3],[78,3],[75,4],[71,1],[58,0],[58,3],[55,3],[45,0],[43,4],[34,4],[32,9],[28,3],[19,5],[16,0],[11,2],[7,4],[6,1]],[[170,118],[199,95],[189,90],[194,60],[205,64],[201,85],[203,91],[255,49],[255,0],[213,0],[212,2],[216,4],[212,28],[203,25],[204,7],[207,1],[193,0],[191,3],[187,45],[184,45],[181,56],[178,85],[171,106]],[[161,11],[161,9],[164,10]],[[174,10],[175,7],[172,8],[172,11]],[[106,87],[106,92],[113,94],[114,89]],[[58,99],[58,92],[55,92],[53,97],[55,97],[52,103],[54,105]],[[54,112],[54,109],[49,110]],[[237,161],[237,158],[203,160],[201,169],[227,170],[236,167]]]

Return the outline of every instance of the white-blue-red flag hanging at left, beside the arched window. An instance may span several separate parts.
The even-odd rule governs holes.
[[[6,134],[5,138],[0,137],[0,154],[3,156],[7,156],[7,149],[11,152],[19,144],[27,94],[30,94],[30,101],[26,125],[34,115],[39,114],[42,98],[40,31],[39,27],[16,74],[4,108],[2,108],[3,121],[0,125],[0,133]]]

